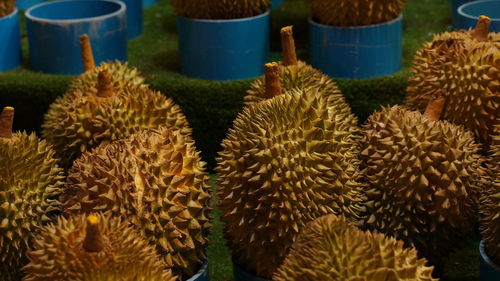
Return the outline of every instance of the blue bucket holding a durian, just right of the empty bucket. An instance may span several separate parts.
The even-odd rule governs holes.
[[[181,72],[206,80],[260,76],[269,55],[269,11],[231,20],[177,16]]]

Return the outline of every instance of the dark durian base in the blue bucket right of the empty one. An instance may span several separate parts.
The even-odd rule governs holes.
[[[265,13],[270,0],[172,0],[177,14],[192,19],[239,19]]]

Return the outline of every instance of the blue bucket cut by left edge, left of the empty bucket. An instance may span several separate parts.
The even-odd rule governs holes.
[[[17,67],[21,63],[21,36],[19,34],[19,12],[0,18],[0,71]]]

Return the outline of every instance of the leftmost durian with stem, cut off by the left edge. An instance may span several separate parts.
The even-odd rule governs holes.
[[[0,115],[0,280],[18,280],[38,228],[60,209],[62,169],[35,134],[12,133],[14,108]]]

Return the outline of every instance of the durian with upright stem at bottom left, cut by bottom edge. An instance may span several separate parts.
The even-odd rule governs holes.
[[[120,218],[75,215],[43,227],[24,281],[174,281],[154,246]]]

